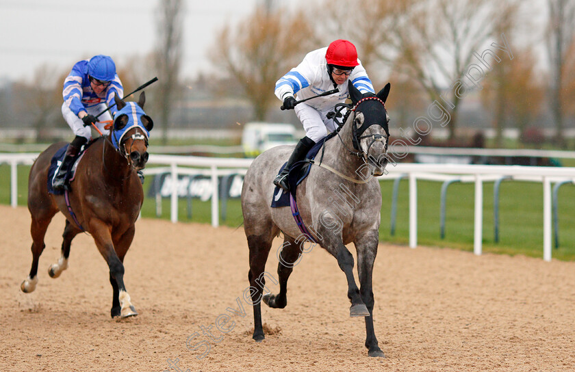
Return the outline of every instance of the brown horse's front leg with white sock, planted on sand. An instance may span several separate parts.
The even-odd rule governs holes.
[[[131,317],[133,315],[138,315],[136,309],[132,306],[130,302],[130,295],[126,291],[124,285],[124,264],[122,260],[116,254],[114,249],[114,243],[112,243],[112,235],[110,233],[110,227],[100,220],[90,221],[90,232],[92,237],[100,251],[100,254],[105,259],[108,267],[110,268],[110,282],[112,283],[112,288],[114,289],[114,300],[112,301],[112,317]],[[132,235],[133,237],[133,235]],[[123,258],[123,257],[122,257]],[[114,281],[116,282],[116,287],[114,287]],[[116,298],[116,291],[118,293],[118,302],[120,304],[120,313],[118,314]]]

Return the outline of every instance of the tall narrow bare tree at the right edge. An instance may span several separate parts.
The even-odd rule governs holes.
[[[567,50],[575,38],[575,1],[548,0],[548,5],[547,47],[551,71],[551,110],[557,128],[557,144],[565,146],[561,95],[566,79],[564,67],[567,63]]]

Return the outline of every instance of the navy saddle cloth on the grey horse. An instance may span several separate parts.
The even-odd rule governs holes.
[[[295,200],[296,189],[297,189],[298,185],[300,183],[302,183],[303,180],[305,180],[305,178],[309,174],[309,170],[311,169],[311,163],[309,161],[314,160],[316,158],[316,156],[318,155],[318,152],[320,152],[320,149],[322,148],[324,143],[327,140],[335,137],[335,135],[337,135],[337,133],[335,133],[335,132],[329,133],[329,135],[327,135],[323,139],[320,139],[318,141],[318,143],[316,143],[314,145],[314,147],[312,147],[307,152],[307,155],[305,155],[305,159],[303,161],[298,161],[297,163],[295,163],[292,166],[292,169],[290,170],[290,174],[288,174],[288,184],[290,185],[290,192],[289,193],[284,192],[283,189],[281,189],[281,187],[276,186],[274,189],[274,195],[272,197],[272,204],[271,204],[272,208],[290,207],[290,194],[292,194],[292,197]],[[323,153],[321,155],[321,158],[323,158]],[[321,162],[321,158],[320,158],[320,162]],[[286,163],[288,163],[288,162],[286,161],[285,163],[283,163],[279,172],[281,172],[281,170],[283,170]],[[278,174],[279,174],[279,172],[278,172]]]

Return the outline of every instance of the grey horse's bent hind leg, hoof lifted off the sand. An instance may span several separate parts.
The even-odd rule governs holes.
[[[305,241],[305,240],[304,240]],[[270,308],[285,308],[288,304],[288,278],[298,264],[298,259],[301,256],[302,246],[304,241],[296,241],[287,235],[283,239],[281,252],[278,252],[279,263],[277,264],[277,274],[279,276],[279,293],[272,295],[267,293],[262,300],[270,306]]]

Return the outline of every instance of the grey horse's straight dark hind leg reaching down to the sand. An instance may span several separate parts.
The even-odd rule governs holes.
[[[246,232],[248,229],[246,228]],[[259,234],[258,234],[259,233]],[[248,280],[250,281],[250,293],[253,304],[253,336],[255,341],[264,340],[264,328],[261,324],[261,297],[264,291],[266,279],[264,278],[266,261],[272,246],[274,233],[272,226],[269,228],[259,228],[257,233],[248,235],[248,247],[250,249],[250,271]]]

